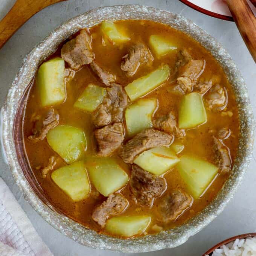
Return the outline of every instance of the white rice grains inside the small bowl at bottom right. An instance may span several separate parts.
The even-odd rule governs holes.
[[[256,256],[256,237],[236,239],[215,249],[211,256]]]

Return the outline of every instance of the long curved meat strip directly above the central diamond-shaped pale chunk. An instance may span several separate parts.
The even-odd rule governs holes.
[[[126,142],[119,154],[125,163],[133,163],[136,155],[150,148],[169,145],[173,139],[174,137],[171,134],[162,131],[144,130]]]

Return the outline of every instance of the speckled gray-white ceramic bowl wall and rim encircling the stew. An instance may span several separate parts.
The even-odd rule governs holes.
[[[198,215],[175,229],[134,239],[117,239],[86,229],[77,222],[57,212],[47,203],[40,187],[35,182],[24,157],[21,127],[23,107],[38,66],[51,55],[58,45],[81,28],[91,27],[103,20],[145,19],[168,24],[185,32],[200,42],[223,67],[235,91],[239,108],[241,134],[238,154],[229,180],[226,181],[217,197]],[[209,224],[229,202],[244,176],[252,155],[253,114],[244,80],[230,58],[213,37],[200,29],[192,21],[167,11],[138,5],[111,6],[91,10],[72,18],[53,31],[26,56],[18,74],[11,85],[1,112],[2,144],[15,181],[22,190],[24,198],[53,227],[80,244],[93,248],[109,249],[124,253],[137,253],[176,247]]]

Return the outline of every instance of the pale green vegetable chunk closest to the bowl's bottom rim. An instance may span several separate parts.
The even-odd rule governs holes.
[[[150,216],[117,216],[107,221],[105,230],[113,235],[131,237],[145,232],[150,222]]]

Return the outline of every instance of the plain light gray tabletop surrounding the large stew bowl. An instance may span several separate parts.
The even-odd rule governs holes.
[[[10,2],[13,3],[14,0],[0,0],[0,17],[6,12],[6,9],[10,8]],[[5,5],[5,3],[7,4]],[[256,116],[256,101],[254,99],[256,96],[256,66],[242,41],[235,23],[219,20],[196,12],[178,0],[69,0],[68,2],[58,3],[44,9],[27,21],[0,50],[0,106],[3,104],[3,100],[18,67],[21,65],[22,59],[49,32],[67,19],[90,9],[99,6],[123,4],[153,6],[182,14],[215,37],[230,53],[241,70],[248,87],[253,113]],[[146,255],[200,256],[208,248],[230,236],[256,232],[255,157],[256,151],[254,149],[253,159],[241,186],[226,209],[211,224],[177,248],[146,253]],[[35,229],[55,256],[125,255],[123,253],[113,253],[111,251],[94,250],[84,247],[51,227],[24,200],[21,191],[12,178],[8,166],[3,162],[2,155],[0,155],[0,176],[8,184]]]

